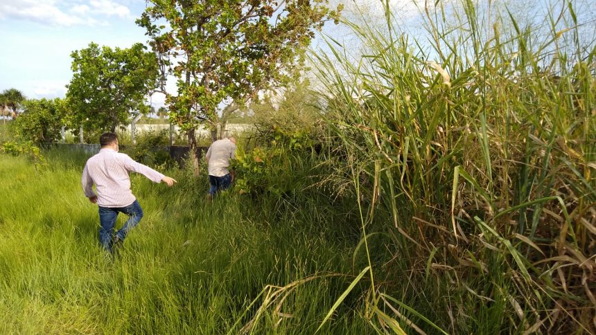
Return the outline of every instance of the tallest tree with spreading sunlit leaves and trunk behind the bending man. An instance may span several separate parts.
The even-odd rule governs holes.
[[[195,128],[207,123],[216,140],[218,108],[230,101],[243,105],[289,80],[314,30],[338,15],[326,8],[327,0],[150,2],[137,24],[146,28],[159,59],[170,118],[187,131],[195,174]],[[166,75],[175,76],[177,96],[166,91]]]

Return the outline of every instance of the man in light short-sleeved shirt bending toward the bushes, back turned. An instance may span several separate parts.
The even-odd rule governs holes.
[[[209,195],[213,197],[219,190],[226,190],[234,179],[228,171],[229,160],[236,157],[236,138],[229,136],[211,143],[205,160],[209,165]]]

